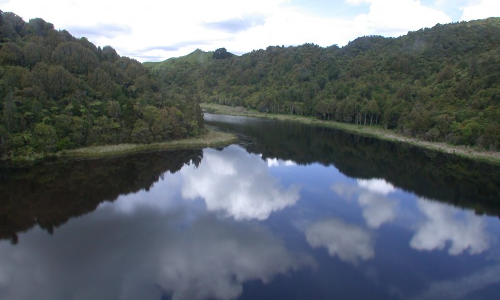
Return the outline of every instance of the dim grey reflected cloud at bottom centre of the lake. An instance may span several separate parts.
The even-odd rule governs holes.
[[[236,299],[244,282],[266,284],[290,269],[314,266],[312,258],[288,253],[260,227],[199,223],[188,234],[160,262],[160,286],[173,291],[173,299]]]

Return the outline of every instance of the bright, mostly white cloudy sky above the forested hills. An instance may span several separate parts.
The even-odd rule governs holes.
[[[498,0],[0,0],[24,21],[43,18],[140,62],[196,49],[241,55],[268,46],[347,45],[440,23],[500,16]]]

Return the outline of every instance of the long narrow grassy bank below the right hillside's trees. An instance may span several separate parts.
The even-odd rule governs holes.
[[[404,136],[403,134],[398,134],[397,132],[390,129],[384,129],[381,126],[363,126],[363,125],[354,125],[348,123],[340,123],[336,121],[324,121],[324,120],[318,120],[317,118],[314,118],[312,116],[299,116],[290,114],[266,114],[264,112],[258,112],[257,110],[248,110],[242,107],[232,107],[227,105],[219,105],[215,103],[201,103],[201,108],[207,112],[214,114],[229,114],[233,116],[272,118],[277,120],[299,121],[308,124],[324,125],[327,127],[340,129],[345,132],[360,134],[362,136],[379,138],[381,140],[390,140],[392,142],[405,142],[407,144],[414,145],[416,147],[460,155],[462,157],[471,158],[473,160],[482,160],[486,162],[500,164],[500,153],[496,151],[486,151],[468,146],[449,145],[445,142],[430,142],[427,140],[420,140],[418,138],[412,138],[409,136]]]

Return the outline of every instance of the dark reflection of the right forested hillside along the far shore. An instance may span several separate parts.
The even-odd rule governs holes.
[[[429,199],[500,216],[498,166],[294,122],[208,121],[250,138],[247,151],[298,164],[334,165],[349,177],[384,178]]]

